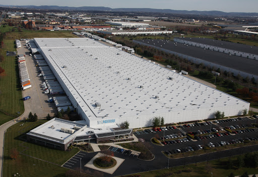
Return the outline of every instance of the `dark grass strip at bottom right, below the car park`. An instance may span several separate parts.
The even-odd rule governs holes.
[[[231,157],[231,159],[234,161],[236,160],[236,156]],[[159,170],[153,170],[153,171],[147,171],[147,172],[141,172],[137,173],[140,174],[141,177],[161,177],[161,176],[176,176],[176,177],[185,177],[185,176],[191,176],[191,177],[210,177],[211,173],[213,173],[214,177],[218,176],[228,176],[231,172],[233,172],[235,175],[242,175],[245,171],[247,171],[248,174],[257,174],[258,169],[256,168],[248,168],[248,167],[241,167],[237,169],[235,166],[233,166],[233,169],[228,169],[226,167],[227,163],[229,161],[229,157],[222,158],[219,160],[211,160],[209,163],[207,162],[201,162],[196,164],[190,164],[185,166],[177,166],[177,167],[171,167],[169,169],[159,169]]]

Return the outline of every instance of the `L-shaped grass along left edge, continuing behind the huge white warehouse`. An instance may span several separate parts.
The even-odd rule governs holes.
[[[12,32],[12,29],[15,31]],[[15,56],[6,56],[6,51],[16,51],[14,40],[21,38],[74,38],[76,36],[72,35],[71,31],[22,30],[22,32],[18,32],[17,28],[8,25],[5,25],[5,27],[2,25],[0,32],[10,32],[4,38],[4,48],[0,49],[0,53],[5,56],[5,60],[0,63],[0,66],[5,69],[5,74],[0,76],[0,125],[2,125],[19,116],[17,112],[21,114],[24,112],[17,58]],[[12,116],[8,116],[3,112]]]

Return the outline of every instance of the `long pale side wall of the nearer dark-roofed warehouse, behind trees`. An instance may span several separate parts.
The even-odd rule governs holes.
[[[219,65],[219,64],[216,64],[216,63],[205,61],[205,60],[202,60],[200,58],[191,57],[191,56],[188,56],[188,55],[185,55],[185,54],[182,54],[182,53],[177,53],[177,52],[174,52],[174,51],[170,51],[170,50],[166,50],[166,49],[163,49],[163,48],[159,48],[159,47],[156,47],[156,46],[153,46],[153,45],[150,45],[150,44],[146,44],[146,43],[142,43],[142,42],[139,42],[139,41],[136,41],[136,40],[133,40],[133,41],[136,42],[136,43],[139,43],[141,45],[147,45],[147,46],[150,46],[150,47],[157,48],[157,49],[162,50],[162,51],[164,51],[166,53],[171,53],[171,54],[177,55],[179,57],[185,58],[185,59],[187,59],[187,60],[189,60],[189,61],[191,61],[193,63],[196,63],[196,64],[203,63],[205,66],[208,66],[208,67],[214,67],[216,69],[220,68],[221,70],[226,70],[226,71],[228,71],[230,73],[232,72],[235,76],[240,74],[243,78],[248,76],[249,78],[254,77],[255,80],[258,79],[258,75],[249,74],[247,72],[239,71],[239,70],[236,70],[236,69],[233,69],[233,68],[230,68],[230,67],[226,67],[226,66],[222,66],[222,65]]]

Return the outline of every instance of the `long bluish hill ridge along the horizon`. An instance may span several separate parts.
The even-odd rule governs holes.
[[[81,10],[81,11],[111,11],[111,12],[150,12],[150,13],[171,13],[171,14],[194,14],[210,16],[258,16],[258,13],[221,12],[221,11],[184,11],[171,9],[150,9],[150,8],[107,8],[107,7],[68,7],[68,6],[8,6],[0,7],[40,9],[40,10]]]

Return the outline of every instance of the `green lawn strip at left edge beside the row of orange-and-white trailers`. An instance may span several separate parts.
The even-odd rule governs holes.
[[[22,91],[19,82],[19,71],[17,58],[15,56],[6,56],[6,51],[16,51],[14,40],[4,40],[5,48],[0,52],[5,56],[5,60],[0,66],[5,69],[5,74],[0,77],[0,111],[15,117],[17,112],[24,112]],[[3,115],[3,113],[1,114]],[[3,124],[14,118],[1,116],[0,124]]]

